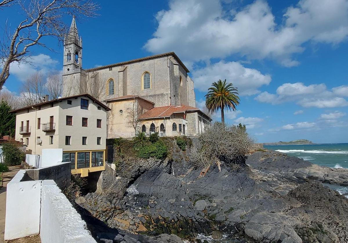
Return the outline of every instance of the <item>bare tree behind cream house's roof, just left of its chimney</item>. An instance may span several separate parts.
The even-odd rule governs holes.
[[[46,95],[45,76],[41,72],[33,73],[24,81],[19,92],[22,106],[44,102]]]

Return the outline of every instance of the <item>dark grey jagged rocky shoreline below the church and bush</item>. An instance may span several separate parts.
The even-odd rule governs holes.
[[[348,242],[348,200],[322,185],[348,185],[348,170],[274,151],[220,167],[199,177],[183,152],[107,165],[101,193],[77,198],[76,207],[105,243],[201,242],[198,234],[216,242],[223,234],[231,242]]]

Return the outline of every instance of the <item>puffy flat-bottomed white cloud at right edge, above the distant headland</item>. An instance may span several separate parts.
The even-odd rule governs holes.
[[[342,87],[342,86],[340,86]],[[296,102],[302,107],[333,108],[348,105],[345,98],[339,97],[335,87],[332,91],[326,88],[325,84],[304,85],[303,83],[286,83],[279,86],[276,94],[267,91],[255,97],[255,100],[270,104],[283,102]]]

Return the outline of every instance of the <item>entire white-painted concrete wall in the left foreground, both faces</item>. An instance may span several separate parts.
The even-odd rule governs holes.
[[[40,234],[41,243],[96,242],[56,183],[24,181],[26,171],[7,184],[5,240]]]

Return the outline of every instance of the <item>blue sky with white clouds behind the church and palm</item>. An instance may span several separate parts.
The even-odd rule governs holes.
[[[77,23],[83,68],[174,51],[191,71],[198,107],[219,78],[239,88],[241,104],[226,120],[246,124],[258,142],[348,142],[348,0],[100,1],[100,7],[100,16]],[[15,7],[0,11],[1,23],[22,19]],[[18,93],[36,70],[61,69],[62,46],[53,38],[45,43],[56,52],[32,48],[33,66],[13,65],[7,89]]]

